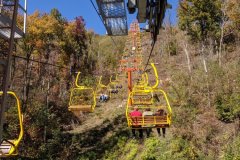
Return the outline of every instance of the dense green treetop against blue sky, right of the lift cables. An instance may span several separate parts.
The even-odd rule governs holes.
[[[220,0],[184,0],[178,10],[179,27],[194,41],[219,37],[221,25]]]

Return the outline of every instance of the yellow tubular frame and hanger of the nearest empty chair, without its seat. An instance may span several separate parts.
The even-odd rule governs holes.
[[[96,93],[95,93],[95,91],[94,91],[94,89],[93,88],[91,88],[91,87],[86,87],[86,86],[81,86],[81,85],[79,85],[78,84],[78,79],[79,79],[79,76],[80,76],[80,74],[81,74],[81,72],[78,72],[77,73],[77,77],[76,77],[76,80],[75,80],[75,85],[76,85],[76,88],[73,88],[72,90],[71,90],[71,94],[70,94],[70,100],[69,100],[69,106],[71,106],[71,104],[72,104],[72,97],[74,97],[74,92],[76,91],[76,90],[91,90],[91,92],[92,92],[92,95],[93,95],[93,104],[91,105],[91,112],[93,112],[94,111],[94,109],[95,109],[95,107],[96,107]],[[81,109],[79,109],[79,111],[81,111]]]

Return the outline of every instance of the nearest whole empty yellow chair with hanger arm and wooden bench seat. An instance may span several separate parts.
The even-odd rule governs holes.
[[[68,110],[78,115],[80,112],[93,112],[96,107],[96,94],[91,87],[78,85],[78,72],[75,85],[72,89]]]

